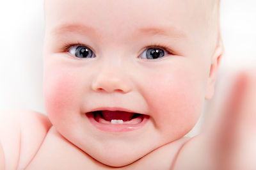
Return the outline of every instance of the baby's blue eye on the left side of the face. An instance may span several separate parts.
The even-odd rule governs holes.
[[[95,58],[93,51],[89,47],[83,45],[72,46],[68,52],[77,58]]]

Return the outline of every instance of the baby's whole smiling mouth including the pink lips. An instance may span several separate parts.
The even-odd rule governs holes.
[[[93,111],[86,116],[100,130],[109,132],[125,132],[141,128],[150,116],[126,111]]]

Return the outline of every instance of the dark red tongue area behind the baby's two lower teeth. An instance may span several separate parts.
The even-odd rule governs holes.
[[[105,120],[123,120],[129,121],[132,119],[134,113],[132,112],[124,112],[124,111],[102,111],[102,116]]]

